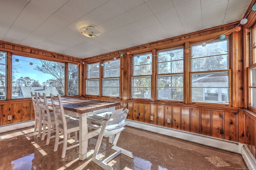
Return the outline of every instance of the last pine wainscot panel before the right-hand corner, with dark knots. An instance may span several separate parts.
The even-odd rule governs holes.
[[[236,114],[224,112],[224,139],[236,141]]]

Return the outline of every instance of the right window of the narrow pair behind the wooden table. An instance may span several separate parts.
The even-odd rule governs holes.
[[[104,61],[102,78],[102,95],[119,96],[120,93],[120,59]]]

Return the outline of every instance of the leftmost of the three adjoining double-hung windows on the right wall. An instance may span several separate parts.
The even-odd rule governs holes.
[[[132,56],[132,98],[151,99],[152,54]]]

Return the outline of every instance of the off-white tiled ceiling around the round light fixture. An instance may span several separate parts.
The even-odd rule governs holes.
[[[85,59],[240,21],[250,2],[0,0],[0,40]],[[82,35],[88,25],[102,35]]]

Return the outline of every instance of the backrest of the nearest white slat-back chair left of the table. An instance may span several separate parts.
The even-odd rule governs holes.
[[[51,100],[52,100],[55,124],[56,124],[56,126],[63,124],[64,130],[67,131],[67,127],[66,127],[67,122],[66,122],[66,118],[65,118],[65,114],[64,114],[61,96],[60,96],[60,94],[58,94],[57,97],[54,97],[53,94],[50,94],[50,96],[51,96]]]

